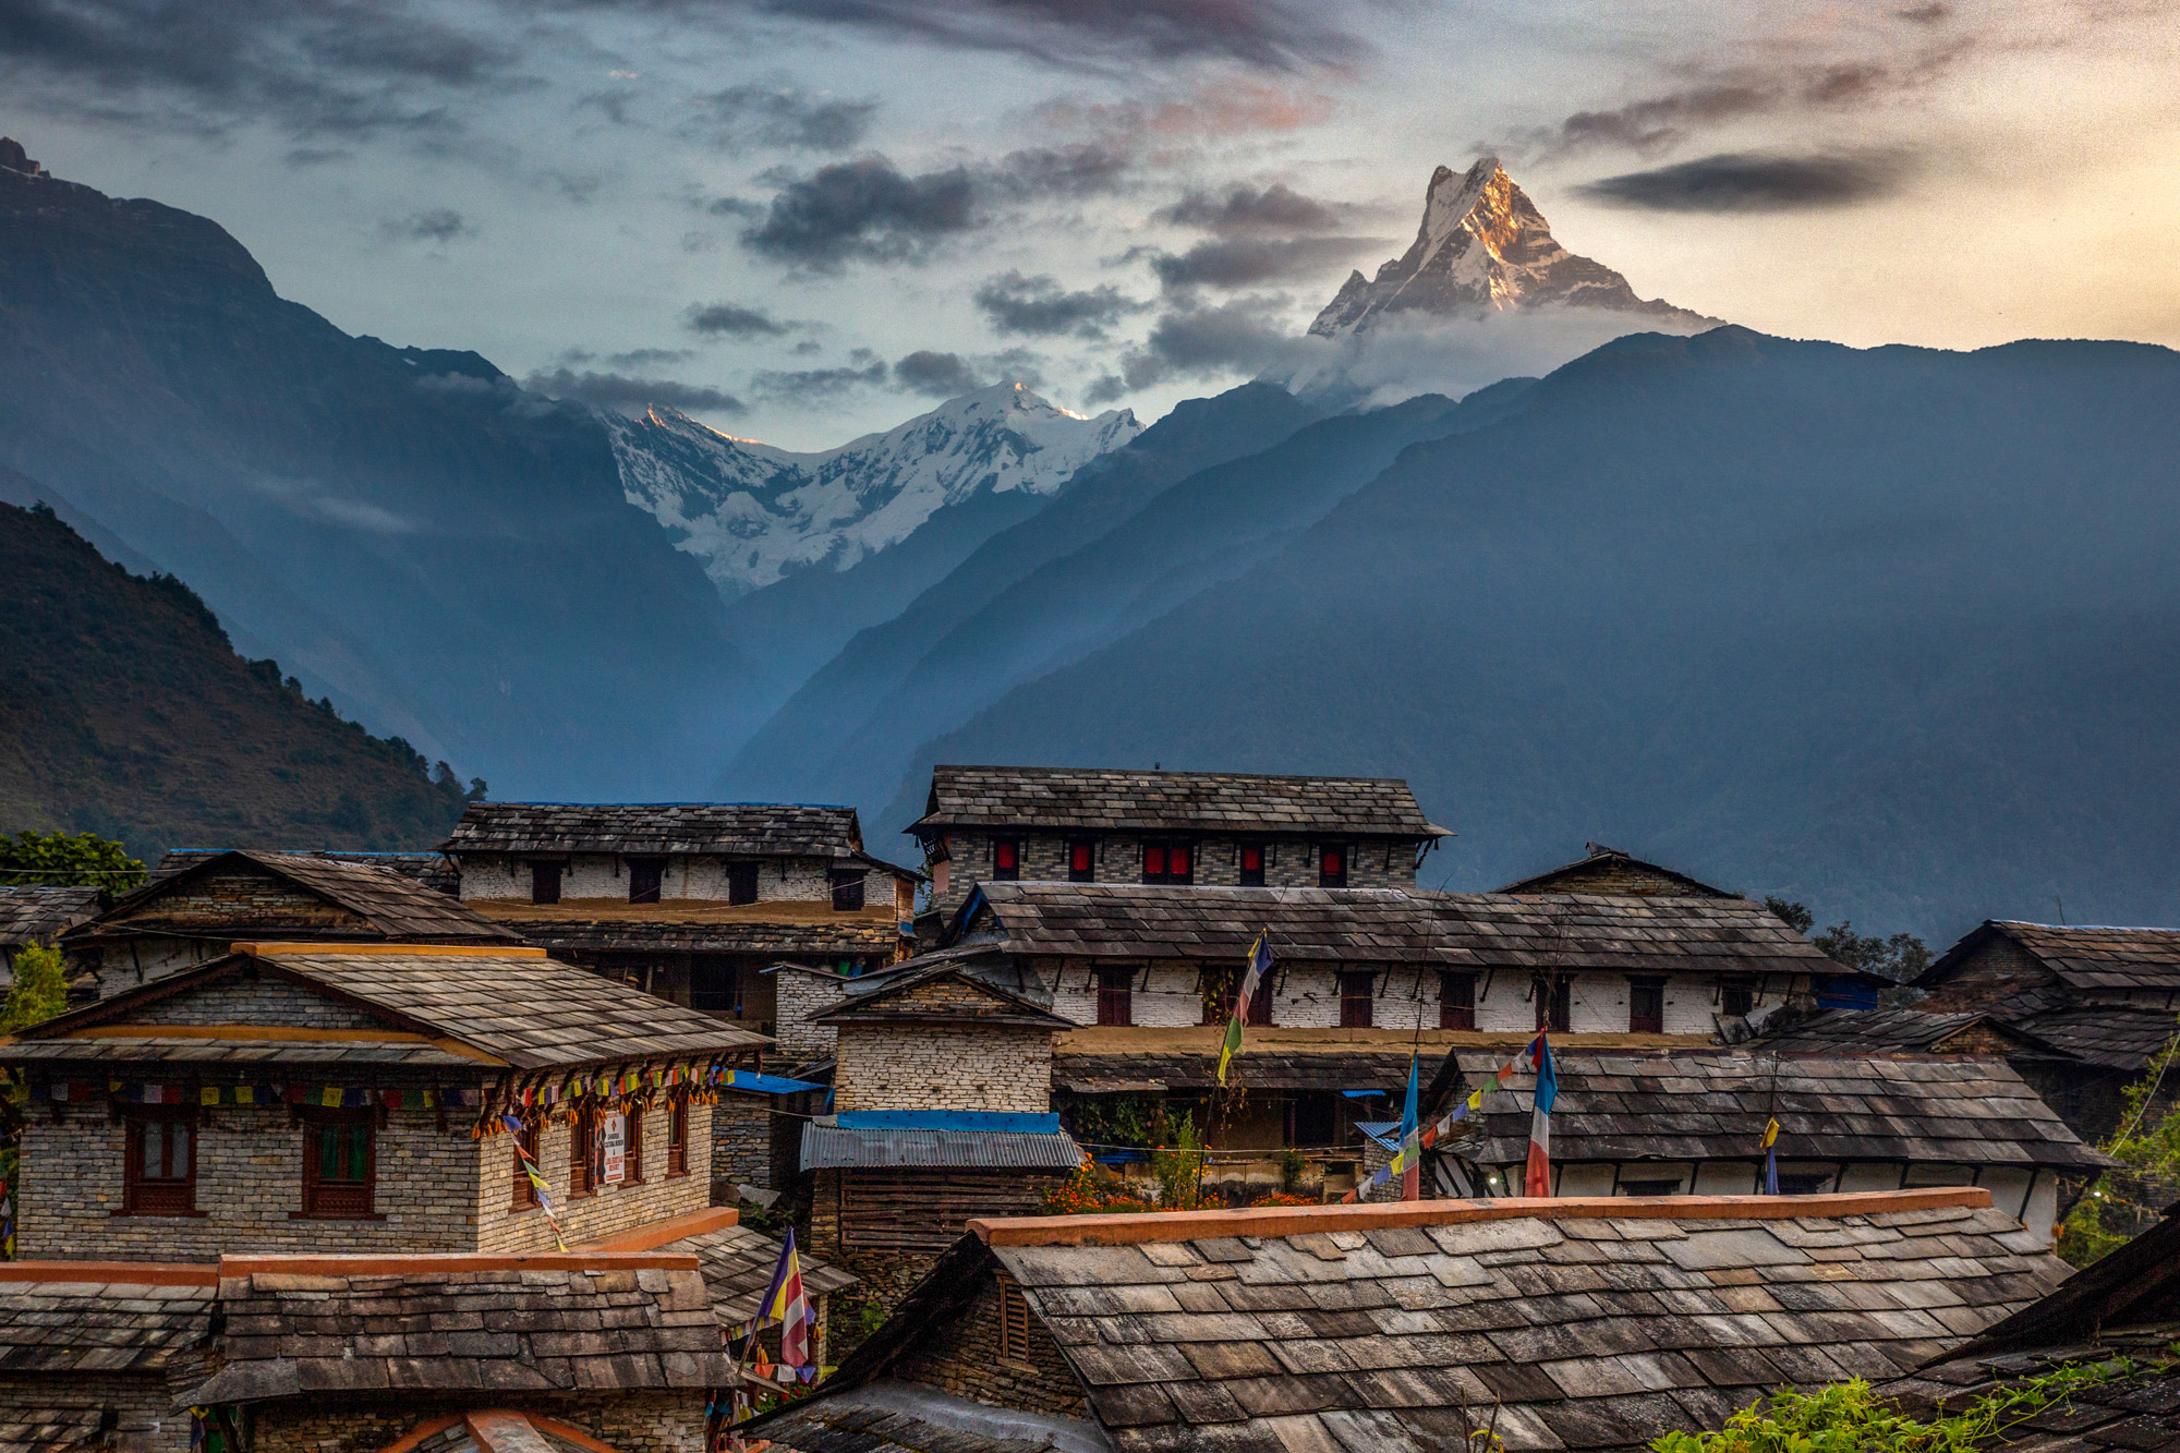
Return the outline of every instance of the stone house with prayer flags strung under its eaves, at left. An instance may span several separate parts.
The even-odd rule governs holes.
[[[0,1043],[17,1252],[543,1250],[506,1115],[569,1239],[702,1211],[713,1069],[761,1043],[543,949],[238,945]]]

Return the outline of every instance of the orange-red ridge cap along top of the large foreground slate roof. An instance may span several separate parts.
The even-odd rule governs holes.
[[[1020,1215],[972,1220],[985,1246],[1129,1246],[1210,1237],[1299,1237],[1312,1230],[1389,1230],[1511,1220],[1788,1220],[1884,1211],[1982,1209],[1973,1185],[1844,1196],[1506,1196],[1498,1200],[1393,1200],[1356,1206],[1249,1206],[1243,1211],[1153,1211],[1131,1215]]]

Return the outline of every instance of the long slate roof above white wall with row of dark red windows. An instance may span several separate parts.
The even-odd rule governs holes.
[[[1748,899],[1036,881],[979,884],[977,892],[996,940],[1016,953],[1243,960],[1269,929],[1273,956],[1288,962],[1844,973]],[[985,914],[964,925],[981,934]]]

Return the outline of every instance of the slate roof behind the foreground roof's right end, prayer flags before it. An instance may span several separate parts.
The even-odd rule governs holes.
[[[1772,1054],[1552,1056],[1552,1158],[1755,1161],[1779,1119],[1781,1161],[1923,1161],[2088,1169],[2112,1161],[2080,1139],[2003,1060],[1805,1058]],[[1504,1056],[1458,1054],[1469,1086]],[[1452,1141],[1478,1165],[1528,1156],[1530,1084],[1485,1095]],[[1448,1145],[1441,1141],[1441,1145]]]

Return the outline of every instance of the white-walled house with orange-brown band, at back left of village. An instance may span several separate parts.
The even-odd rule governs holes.
[[[911,947],[920,875],[865,853],[852,807],[471,803],[443,851],[475,912],[761,1034],[770,964],[855,975]]]

